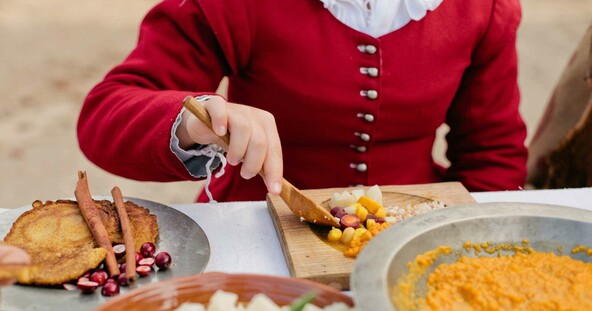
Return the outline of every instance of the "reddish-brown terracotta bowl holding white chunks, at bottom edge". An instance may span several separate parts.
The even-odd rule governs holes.
[[[248,302],[255,294],[263,293],[282,306],[314,291],[317,296],[312,303],[319,307],[325,307],[334,302],[353,305],[348,295],[309,280],[258,274],[209,272],[140,287],[125,295],[114,297],[100,306],[97,311],[175,310],[184,302],[207,303],[219,289],[238,294],[241,302]]]

